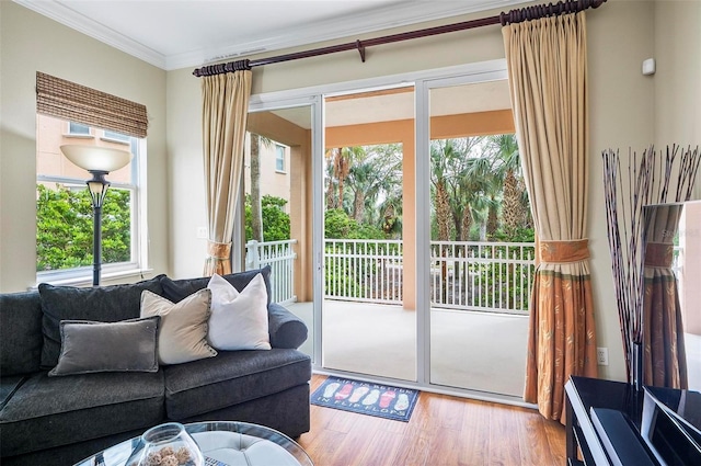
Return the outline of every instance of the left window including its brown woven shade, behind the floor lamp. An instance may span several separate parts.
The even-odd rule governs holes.
[[[93,212],[85,186],[91,175],[64,157],[65,144],[128,145],[130,162],[106,175],[102,275],[141,272],[147,268],[146,106],[37,71],[36,115],[37,281],[82,283],[92,275]],[[103,137],[85,138],[99,134]],[[83,140],[76,140],[80,135]]]

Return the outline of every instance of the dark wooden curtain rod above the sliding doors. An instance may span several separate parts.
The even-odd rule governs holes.
[[[260,58],[257,60],[238,60],[219,65],[208,65],[197,68],[193,71],[196,77],[221,75],[253,67],[279,64],[283,61],[298,60],[301,58],[318,57],[321,55],[335,54],[338,52],[358,50],[360,59],[365,62],[365,48],[376,45],[391,44],[394,42],[409,41],[412,38],[428,37],[437,34],[446,34],[457,31],[466,31],[475,27],[489,26],[493,24],[520,23],[524,21],[538,20],[547,16],[555,16],[566,13],[577,13],[588,8],[599,8],[606,0],[565,0],[558,3],[539,4],[526,7],[522,9],[510,10],[508,13],[502,12],[496,16],[481,18],[478,20],[464,21],[461,23],[446,24],[443,26],[428,27],[425,30],[410,31],[405,33],[386,35],[382,37],[368,38],[365,41],[348,42],[345,44],[331,45],[329,47],[313,48],[309,50],[297,52],[294,54],[278,55],[275,57]]]

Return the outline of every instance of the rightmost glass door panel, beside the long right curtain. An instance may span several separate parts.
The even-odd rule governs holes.
[[[532,243],[513,243],[529,216],[507,202],[522,195],[507,81],[429,88],[428,102],[430,383],[520,397]]]

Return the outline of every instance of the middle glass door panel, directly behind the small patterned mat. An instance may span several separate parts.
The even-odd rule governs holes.
[[[323,367],[416,380],[414,89],[324,116]]]

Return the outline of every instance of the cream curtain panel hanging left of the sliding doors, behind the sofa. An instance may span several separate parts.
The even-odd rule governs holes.
[[[205,276],[231,273],[233,213],[243,170],[251,70],[202,78],[203,154],[209,241]]]

